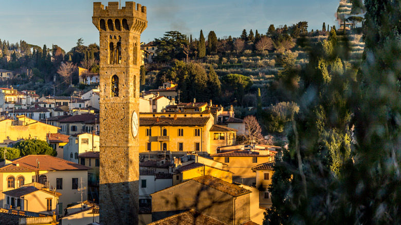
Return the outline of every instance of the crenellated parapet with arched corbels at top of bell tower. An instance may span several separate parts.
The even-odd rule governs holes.
[[[102,3],[93,3],[92,22],[102,31],[130,31],[142,33],[148,26],[146,7],[135,2],[125,2],[125,7],[119,8],[118,2],[109,2],[104,7]]]

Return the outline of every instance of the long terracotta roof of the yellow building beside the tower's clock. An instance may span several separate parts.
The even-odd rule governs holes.
[[[184,125],[184,126],[204,126],[209,121],[209,117],[140,117],[140,126],[153,125]]]

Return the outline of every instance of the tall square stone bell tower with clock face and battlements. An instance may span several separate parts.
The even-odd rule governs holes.
[[[138,224],[140,34],[146,7],[94,3],[100,34],[100,223]]]

